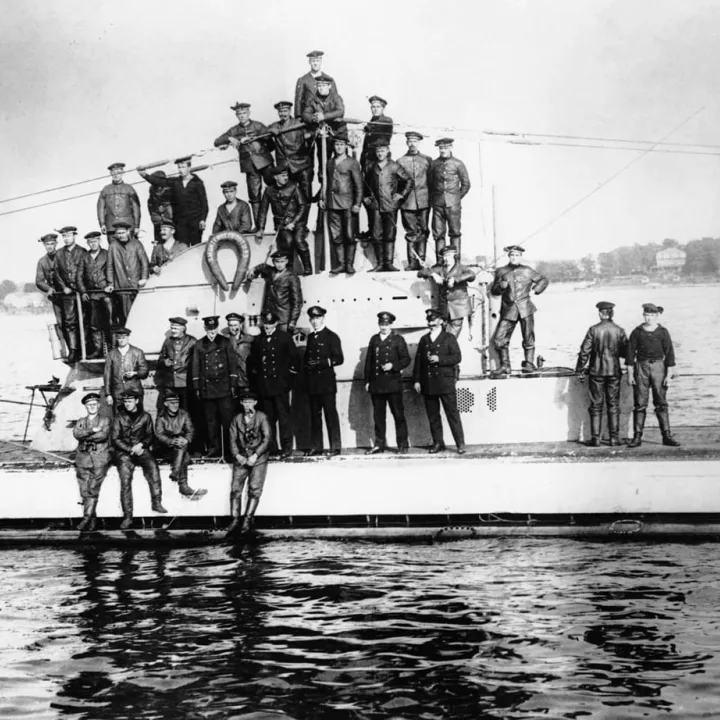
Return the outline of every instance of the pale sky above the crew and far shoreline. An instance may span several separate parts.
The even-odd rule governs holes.
[[[367,98],[379,94],[399,131],[428,134],[426,154],[436,155],[435,138],[456,138],[473,183],[468,254],[491,254],[493,230],[501,247],[525,243],[529,260],[720,235],[717,155],[528,144],[547,138],[527,135],[716,145],[655,150],[720,154],[719,30],[718,2],[6,0],[0,277],[32,279],[36,240],[53,228],[96,229],[106,181],[3,200],[99,178],[114,161],[132,168],[208,150],[235,123],[235,101],[272,122],[313,49],[325,51],[348,116],[369,118]],[[525,133],[523,144],[507,133]],[[398,134],[393,153],[403,152]],[[234,157],[212,151],[196,162]],[[240,180],[239,168],[201,177],[212,221],[220,183]],[[145,211],[147,188],[138,191]],[[2,214],[80,193],[91,197]],[[146,211],[143,227],[149,244]]]

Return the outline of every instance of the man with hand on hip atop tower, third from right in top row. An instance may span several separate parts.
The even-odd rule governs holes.
[[[378,138],[375,141],[376,159],[365,171],[363,202],[368,211],[370,236],[377,258],[377,264],[370,272],[397,272],[393,265],[397,213],[413,186],[412,178],[389,156],[388,141]]]

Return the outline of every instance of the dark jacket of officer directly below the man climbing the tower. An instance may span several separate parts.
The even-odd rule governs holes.
[[[253,340],[248,357],[250,387],[262,397],[292,390],[298,370],[298,351],[292,336],[282,330],[263,331]]]

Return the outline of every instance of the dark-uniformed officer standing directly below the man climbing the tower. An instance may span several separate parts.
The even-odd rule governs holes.
[[[280,459],[292,455],[293,428],[290,415],[290,391],[298,371],[298,352],[292,336],[278,328],[278,317],[263,312],[262,333],[253,340],[248,358],[250,385],[262,402],[272,431],[271,451]],[[278,451],[276,424],[280,431]]]

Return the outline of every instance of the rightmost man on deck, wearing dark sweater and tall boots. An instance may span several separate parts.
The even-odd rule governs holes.
[[[630,333],[626,365],[628,382],[633,386],[633,439],[628,447],[642,445],[645,415],[647,413],[650,390],[657,415],[663,445],[677,447],[680,443],[670,431],[670,414],[667,403],[667,389],[675,377],[675,349],[672,338],[658,318],[663,308],[654,303],[643,304],[643,324]]]

